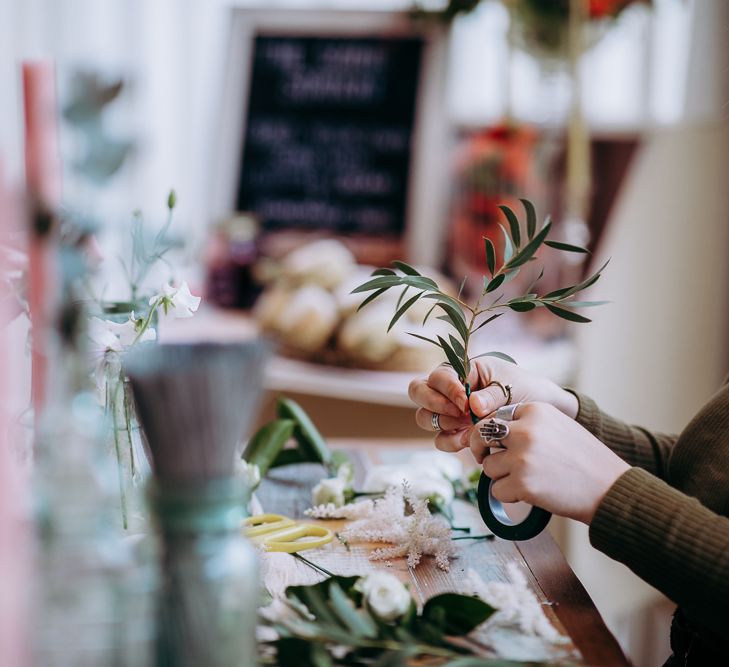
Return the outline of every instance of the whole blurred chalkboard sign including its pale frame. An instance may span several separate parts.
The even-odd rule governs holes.
[[[251,212],[287,238],[325,232],[360,248],[390,239],[400,256],[436,263],[443,28],[402,12],[231,12],[211,213]]]

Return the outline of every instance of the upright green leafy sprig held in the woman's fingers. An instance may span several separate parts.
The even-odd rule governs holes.
[[[561,252],[583,254],[589,252],[586,248],[580,246],[548,239],[552,229],[552,221],[549,216],[541,226],[538,226],[534,205],[527,199],[520,201],[524,207],[524,223],[520,222],[517,215],[508,206],[501,206],[500,208],[504,213],[508,226],[507,229],[507,227],[499,225],[503,236],[501,243],[497,244],[493,239],[484,237],[486,271],[483,277],[483,288],[480,290],[474,304],[470,304],[461,298],[465,279],[461,283],[458,295],[452,296],[444,292],[434,280],[423,276],[415,268],[399,260],[392,263],[392,268],[377,269],[367,282],[352,291],[353,294],[367,294],[359,306],[361,309],[389,289],[404,288],[395,307],[395,314],[390,321],[388,331],[418,300],[432,299],[435,303],[423,319],[423,324],[427,322],[430,314],[436,308],[440,308],[442,314],[438,316],[438,319],[450,324],[454,329],[453,333],[448,334],[447,340],[444,336],[429,338],[417,333],[410,333],[410,335],[441,348],[447,363],[458,373],[467,393],[470,391],[468,377],[471,362],[476,358],[469,356],[469,344],[472,335],[501,317],[505,312],[526,313],[536,308],[546,308],[553,315],[562,319],[570,322],[586,323],[590,320],[575,312],[574,309],[598,306],[605,303],[604,301],[575,301],[573,297],[597,282],[607,266],[607,262],[585,280],[547,294],[539,295],[536,291],[533,291],[544,275],[543,269],[525,294],[506,301],[505,294],[503,292],[498,293],[506,283],[516,278],[524,267],[536,260],[537,252],[543,246]],[[497,253],[497,247],[500,247],[500,253]],[[500,264],[497,266],[497,257],[499,256]],[[415,288],[416,293],[405,300],[405,295],[411,288]],[[482,299],[491,294],[495,298],[488,306],[482,308]],[[467,317],[466,314],[470,315]],[[482,318],[482,316],[488,314],[491,315],[485,319]],[[486,352],[479,356],[495,356],[513,362],[513,359],[501,352]]]

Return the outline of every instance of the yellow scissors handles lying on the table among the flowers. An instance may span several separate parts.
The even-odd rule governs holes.
[[[298,523],[280,514],[257,514],[244,519],[243,526],[243,534],[266,551],[293,554],[318,549],[334,539],[334,533],[328,528]],[[302,537],[317,539],[300,541]]]

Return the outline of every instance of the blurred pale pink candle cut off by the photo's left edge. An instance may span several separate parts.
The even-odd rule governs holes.
[[[0,165],[1,167],[2,165]],[[0,240],[9,228],[11,207],[3,191],[0,169]],[[0,255],[0,263],[2,255]],[[0,266],[0,272],[3,267]],[[0,309],[5,307],[0,300]],[[0,312],[0,323],[6,313]],[[0,325],[0,368],[7,369],[7,340],[5,327]],[[25,476],[12,456],[8,439],[9,424],[5,408],[8,387],[13,378],[7,372],[0,373],[0,572],[3,573],[0,593],[0,665],[20,667],[30,664],[27,652],[26,618],[29,591],[28,532],[23,520],[22,505],[25,494]]]

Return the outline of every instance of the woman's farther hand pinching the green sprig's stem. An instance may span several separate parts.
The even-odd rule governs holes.
[[[468,447],[472,423],[469,408],[477,417],[485,417],[506,405],[504,391],[499,385],[490,384],[492,382],[499,382],[503,387],[511,386],[512,403],[549,403],[572,418],[577,416],[577,399],[572,394],[554,382],[507,361],[490,357],[477,359],[471,363],[468,380],[472,390],[470,402],[450,366],[439,366],[426,379],[410,383],[410,398],[420,406],[415,415],[418,425],[432,433],[435,431],[432,415],[440,415],[442,431],[436,435],[435,445],[443,451],[453,452]]]

